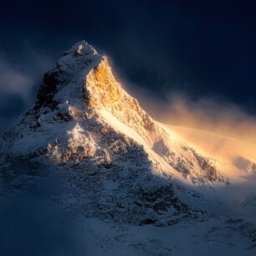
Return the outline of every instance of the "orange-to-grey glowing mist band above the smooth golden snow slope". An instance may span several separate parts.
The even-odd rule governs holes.
[[[154,120],[166,125],[211,131],[256,144],[255,115],[219,95],[194,97],[170,90],[159,97],[136,84],[125,82],[125,85]]]

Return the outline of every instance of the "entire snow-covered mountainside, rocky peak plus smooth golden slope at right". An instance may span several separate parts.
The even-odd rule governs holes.
[[[185,233],[184,227],[197,233],[198,228],[194,245],[199,244],[199,253],[214,243],[223,252],[232,248],[253,255],[256,229],[248,212],[255,197],[244,195],[247,199],[231,218],[231,201],[223,195],[254,177],[255,146],[184,129],[152,120],[115,79],[107,57],[81,41],[44,74],[33,108],[3,134],[2,195],[17,197],[41,187],[45,179],[58,181],[54,192],[47,192],[47,202],[57,206],[59,222],[83,223],[84,218],[105,227],[105,235],[97,228],[84,233],[97,255],[131,255],[117,253],[120,244],[133,255],[136,250],[138,255],[189,255],[187,245],[150,241],[146,227],[166,236],[175,236],[174,230]],[[246,156],[244,148],[250,152]],[[248,214],[249,220],[241,219]],[[111,223],[121,228],[114,232]],[[135,242],[138,227],[143,242]],[[219,236],[223,240],[216,242]],[[233,243],[239,239],[239,246]]]

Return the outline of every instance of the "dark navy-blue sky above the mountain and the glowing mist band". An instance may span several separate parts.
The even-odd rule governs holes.
[[[5,1],[0,131],[33,105],[44,72],[84,39],[121,79],[165,100],[227,100],[256,113],[253,1]]]

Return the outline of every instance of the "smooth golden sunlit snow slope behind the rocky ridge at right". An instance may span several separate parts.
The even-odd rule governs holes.
[[[177,125],[163,125],[194,148],[218,159],[225,177],[233,182],[248,182],[256,175],[256,145],[232,137]]]

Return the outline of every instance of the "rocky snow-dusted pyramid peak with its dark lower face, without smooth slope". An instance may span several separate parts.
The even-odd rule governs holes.
[[[115,79],[107,57],[84,41],[44,74],[34,107],[0,143],[6,170],[22,161],[67,173],[67,186],[87,195],[92,217],[141,224],[188,212],[194,218],[201,212],[175,196],[177,181],[228,183],[218,159],[152,120]]]

